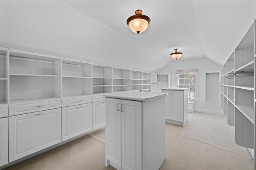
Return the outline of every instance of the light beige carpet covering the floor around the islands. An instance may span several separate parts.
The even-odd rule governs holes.
[[[234,142],[226,116],[189,113],[185,127],[166,123],[160,170],[253,170],[248,150]],[[105,128],[4,170],[113,170],[105,167]]]

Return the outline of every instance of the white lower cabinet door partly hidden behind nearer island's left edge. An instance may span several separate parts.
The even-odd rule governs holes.
[[[92,129],[96,129],[98,127],[104,126],[106,121],[106,102],[94,102],[92,104]]]

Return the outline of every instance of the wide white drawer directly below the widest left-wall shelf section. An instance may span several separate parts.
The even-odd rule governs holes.
[[[40,102],[27,102],[9,104],[9,116],[20,115],[24,113],[31,113],[35,111],[42,111],[48,109],[55,109],[61,107],[61,99],[54,99]]]

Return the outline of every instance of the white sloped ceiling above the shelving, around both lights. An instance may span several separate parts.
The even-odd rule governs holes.
[[[137,35],[126,20],[151,18]],[[256,17],[255,0],[0,1],[0,46],[158,72],[170,62],[224,64]]]

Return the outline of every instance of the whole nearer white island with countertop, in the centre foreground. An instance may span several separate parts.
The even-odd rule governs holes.
[[[106,166],[157,170],[165,160],[163,93],[115,92],[106,96]]]

